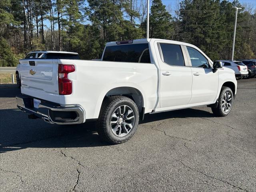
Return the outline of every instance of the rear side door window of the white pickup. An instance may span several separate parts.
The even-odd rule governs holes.
[[[185,66],[180,45],[160,43],[164,62],[173,66]]]

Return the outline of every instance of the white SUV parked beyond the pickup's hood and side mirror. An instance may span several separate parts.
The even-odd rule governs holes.
[[[229,61],[229,60],[219,60],[223,62],[223,66],[234,70],[236,79],[242,79],[248,77],[247,66],[241,61]]]

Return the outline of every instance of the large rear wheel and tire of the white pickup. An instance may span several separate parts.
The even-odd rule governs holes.
[[[102,103],[97,121],[99,136],[111,144],[128,141],[135,134],[139,122],[139,111],[125,96],[111,96]]]

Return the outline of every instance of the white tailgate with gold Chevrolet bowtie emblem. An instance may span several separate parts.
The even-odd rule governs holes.
[[[57,59],[22,59],[19,72],[22,94],[59,102]]]

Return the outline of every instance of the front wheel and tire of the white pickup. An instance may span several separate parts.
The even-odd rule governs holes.
[[[229,87],[222,87],[218,98],[217,108],[212,108],[212,112],[220,117],[227,116],[233,106],[233,92]]]

